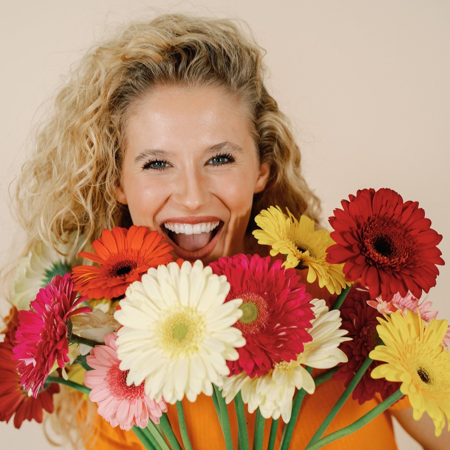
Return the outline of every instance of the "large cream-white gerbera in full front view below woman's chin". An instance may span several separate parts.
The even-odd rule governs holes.
[[[212,274],[202,261],[184,261],[149,269],[126,290],[114,317],[121,370],[127,384],[139,386],[156,401],[174,404],[184,395],[211,396],[229,374],[226,360],[238,359],[235,347],[245,339],[232,325],[243,314],[241,299],[224,304],[225,277]]]

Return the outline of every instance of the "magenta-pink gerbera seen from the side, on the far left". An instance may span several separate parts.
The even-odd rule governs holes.
[[[19,311],[14,360],[20,361],[17,369],[20,384],[33,396],[44,388],[45,378],[54,364],[64,367],[69,362],[70,337],[67,324],[74,314],[91,311],[90,307],[76,308],[86,297],[76,297],[70,274],[56,275],[50,284],[40,289],[30,311]],[[76,309],[75,309],[76,308]]]

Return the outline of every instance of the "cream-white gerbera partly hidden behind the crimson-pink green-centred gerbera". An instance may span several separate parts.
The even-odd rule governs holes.
[[[281,361],[275,364],[269,373],[261,377],[249,378],[245,372],[232,375],[225,380],[222,396],[226,403],[234,399],[241,391],[242,400],[247,403],[248,412],[258,407],[261,415],[269,419],[289,422],[292,412],[292,400],[295,389],[304,389],[308,394],[315,391],[314,380],[303,365],[315,369],[330,369],[341,362],[347,362],[347,356],[338,347],[341,342],[351,338],[344,337],[347,330],[340,329],[342,319],[340,311],[329,311],[324,300],[311,300],[314,304],[315,319],[308,333],[311,342],[305,343],[305,350],[295,361]]]

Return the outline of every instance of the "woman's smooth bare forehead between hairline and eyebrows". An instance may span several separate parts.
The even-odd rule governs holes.
[[[137,150],[252,140],[246,105],[213,85],[154,87],[130,104],[126,135],[126,147]]]

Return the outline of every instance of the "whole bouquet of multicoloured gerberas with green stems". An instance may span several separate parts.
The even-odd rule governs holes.
[[[182,400],[211,397],[227,450],[268,449],[279,419],[288,449],[307,394],[330,378],[346,389],[306,447],[356,431],[403,396],[438,436],[450,418],[450,332],[419,302],[444,264],[417,202],[363,189],[315,230],[306,216],[270,207],[253,234],[270,255],[173,261],[164,236],[143,226],[105,229],[75,266],[42,243],[21,261],[0,343],[0,420],[14,426],[53,411],[59,384],[89,394],[112,427],[133,429],[146,449],[192,449]],[[277,255],[284,258],[275,259]],[[307,270],[306,276],[298,270]],[[302,272],[303,274],[303,272]],[[334,294],[312,298],[306,284]],[[1,331],[1,330],[0,330]],[[84,372],[83,383],[71,374]],[[315,370],[315,377],[312,372]],[[344,402],[381,403],[322,437]],[[176,405],[182,443],[167,418]],[[248,435],[245,408],[256,411]],[[174,425],[172,423],[172,425]]]

